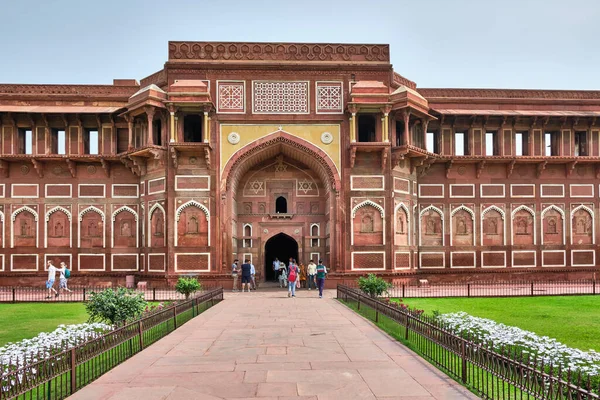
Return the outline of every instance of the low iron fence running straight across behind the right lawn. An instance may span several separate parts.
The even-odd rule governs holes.
[[[356,282],[348,286],[357,287]],[[394,284],[387,297],[523,297],[600,294],[596,280]]]

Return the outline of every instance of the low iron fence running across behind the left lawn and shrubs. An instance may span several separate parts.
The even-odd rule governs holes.
[[[216,286],[203,285],[203,293],[216,288]],[[58,296],[43,287],[0,287],[0,303],[19,302],[82,302],[89,299],[90,293],[101,292],[106,287],[79,286],[70,287],[69,291],[61,291]],[[58,289],[57,289],[58,290]],[[175,286],[164,286],[147,289],[133,289],[135,292],[143,293],[146,301],[174,301],[184,300],[185,296],[177,293]]]

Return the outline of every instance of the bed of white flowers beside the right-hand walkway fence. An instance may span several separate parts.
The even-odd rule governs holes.
[[[530,361],[537,359],[547,366],[582,372],[591,377],[600,375],[600,353],[595,350],[574,349],[556,339],[465,312],[442,314],[437,318],[451,332],[477,343],[490,344],[497,351],[522,351]]]

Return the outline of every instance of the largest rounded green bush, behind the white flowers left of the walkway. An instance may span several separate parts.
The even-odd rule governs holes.
[[[142,293],[118,288],[92,292],[85,305],[90,322],[122,324],[138,318],[147,306]]]

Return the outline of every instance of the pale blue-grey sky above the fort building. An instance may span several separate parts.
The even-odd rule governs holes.
[[[169,40],[389,43],[418,87],[600,90],[599,0],[0,0],[0,82],[110,84]]]

